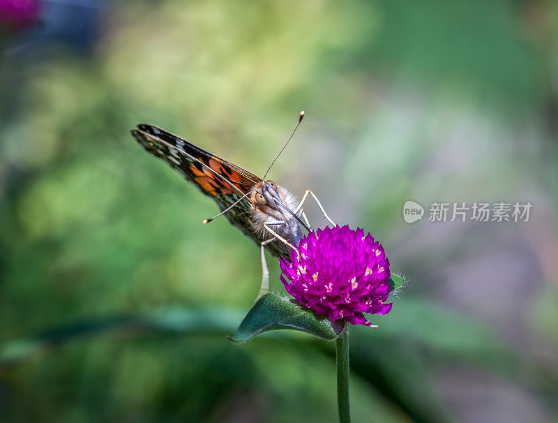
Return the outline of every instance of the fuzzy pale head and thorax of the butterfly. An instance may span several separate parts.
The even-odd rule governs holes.
[[[260,181],[252,188],[250,201],[254,213],[252,225],[262,239],[271,238],[271,233],[264,228],[264,222],[267,222],[274,232],[290,243],[299,243],[302,231],[292,214],[298,205],[294,195],[273,181]]]

